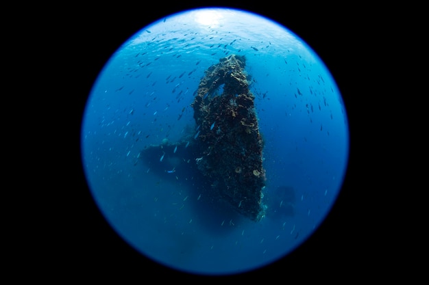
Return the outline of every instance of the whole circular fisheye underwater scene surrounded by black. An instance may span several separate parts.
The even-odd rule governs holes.
[[[93,85],[81,136],[114,231],[199,275],[259,269],[302,245],[349,155],[342,97],[315,51],[225,8],[166,16],[123,43]]]

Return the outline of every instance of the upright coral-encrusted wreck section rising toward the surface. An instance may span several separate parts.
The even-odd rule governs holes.
[[[197,168],[209,178],[212,191],[238,213],[254,221],[265,214],[262,189],[264,142],[249,91],[245,57],[230,55],[210,66],[191,106],[197,124]]]

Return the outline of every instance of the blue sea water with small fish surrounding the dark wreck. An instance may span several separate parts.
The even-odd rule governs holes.
[[[341,189],[349,133],[336,83],[305,42],[254,14],[210,11],[160,19],[112,55],[86,105],[82,163],[101,213],[138,252],[189,273],[238,273],[289,254],[323,221]],[[283,209],[258,222],[210,210],[188,177],[156,173],[140,157],[195,130],[190,105],[204,70],[231,54],[247,58],[256,96],[264,201]]]

